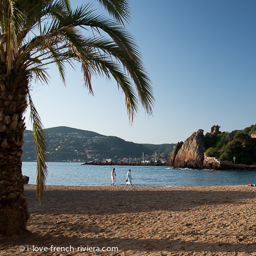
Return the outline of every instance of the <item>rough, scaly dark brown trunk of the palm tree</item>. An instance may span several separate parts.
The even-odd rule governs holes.
[[[22,178],[22,145],[28,75],[0,65],[0,235],[26,230],[28,202]]]

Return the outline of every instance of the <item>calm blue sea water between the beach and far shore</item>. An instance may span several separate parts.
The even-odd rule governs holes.
[[[46,185],[102,186],[111,184],[111,171],[115,167],[117,182],[126,184],[126,173],[132,169],[133,185],[150,187],[247,185],[256,183],[256,172],[234,170],[171,169],[167,166],[92,166],[80,163],[48,163]],[[29,184],[36,184],[36,163],[23,162],[23,175]]]

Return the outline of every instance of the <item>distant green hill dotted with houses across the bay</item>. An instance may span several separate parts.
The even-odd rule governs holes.
[[[48,144],[48,161],[113,161],[131,158],[146,160],[156,151],[158,159],[166,157],[174,144],[136,144],[115,136],[105,136],[87,130],[71,127],[53,127],[45,129]],[[35,160],[33,132],[25,130],[22,160]]]

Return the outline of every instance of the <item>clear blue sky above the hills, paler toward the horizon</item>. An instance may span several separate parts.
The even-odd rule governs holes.
[[[71,2],[74,8],[88,1]],[[69,126],[163,144],[185,141],[198,129],[209,132],[212,125],[231,132],[256,123],[255,0],[130,0],[130,8],[126,27],[152,81],[153,116],[140,108],[130,127],[114,80],[94,78],[92,96],[80,66],[66,69],[66,87],[53,66],[48,86],[33,84],[45,128]]]

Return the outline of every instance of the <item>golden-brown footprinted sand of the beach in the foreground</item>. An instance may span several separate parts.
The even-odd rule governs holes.
[[[25,191],[32,234],[0,255],[256,255],[256,187],[47,186],[41,206]]]

